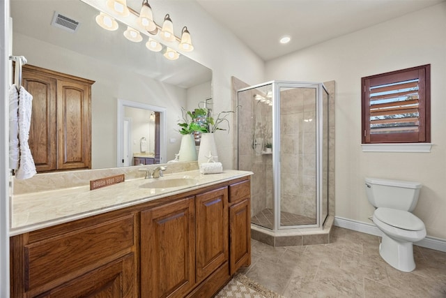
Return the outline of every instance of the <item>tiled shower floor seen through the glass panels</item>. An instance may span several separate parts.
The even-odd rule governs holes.
[[[274,222],[274,212],[270,208],[263,209],[258,214],[254,214],[251,218],[251,223],[260,225],[265,228],[272,229]],[[280,212],[280,225],[314,225],[316,218],[293,214],[285,211]]]

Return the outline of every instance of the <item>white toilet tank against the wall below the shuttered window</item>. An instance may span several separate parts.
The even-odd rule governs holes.
[[[367,199],[374,207],[413,211],[417,206],[422,184],[413,181],[365,179]]]

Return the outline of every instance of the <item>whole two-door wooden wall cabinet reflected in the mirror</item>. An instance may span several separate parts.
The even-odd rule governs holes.
[[[91,168],[91,80],[25,65],[33,96],[29,147],[36,170]]]

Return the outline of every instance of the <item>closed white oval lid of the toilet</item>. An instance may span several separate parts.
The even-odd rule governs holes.
[[[408,211],[380,207],[375,210],[374,215],[383,223],[392,225],[395,228],[410,231],[420,231],[424,229],[424,223],[421,219]]]

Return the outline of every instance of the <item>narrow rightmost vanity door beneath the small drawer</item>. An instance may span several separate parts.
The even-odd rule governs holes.
[[[231,275],[251,264],[251,212],[249,198],[229,207]]]

